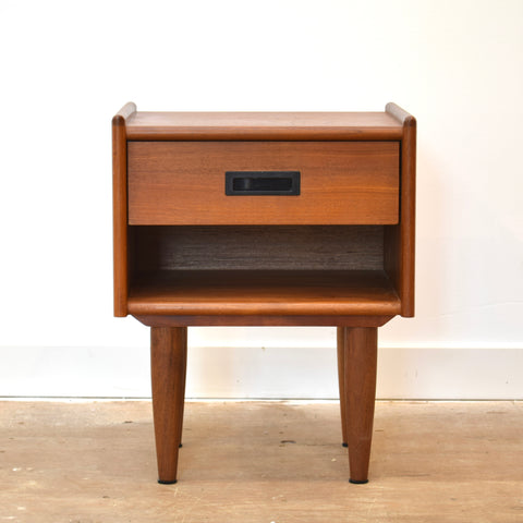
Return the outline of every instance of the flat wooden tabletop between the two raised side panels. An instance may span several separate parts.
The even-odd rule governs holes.
[[[137,112],[133,141],[394,141],[401,123],[387,112]]]

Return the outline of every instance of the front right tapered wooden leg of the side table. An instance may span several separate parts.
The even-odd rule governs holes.
[[[345,428],[351,483],[368,482],[376,401],[377,349],[377,328],[345,327]]]

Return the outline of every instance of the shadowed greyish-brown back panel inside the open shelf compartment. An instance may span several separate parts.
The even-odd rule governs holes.
[[[380,226],[131,226],[135,273],[156,270],[381,270]]]

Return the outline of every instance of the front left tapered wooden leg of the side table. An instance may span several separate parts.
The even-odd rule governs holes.
[[[150,369],[158,483],[177,483],[178,452],[182,440],[186,327],[150,328]]]

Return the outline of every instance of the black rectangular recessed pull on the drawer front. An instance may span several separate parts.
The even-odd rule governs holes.
[[[297,196],[300,171],[228,171],[228,196]]]

